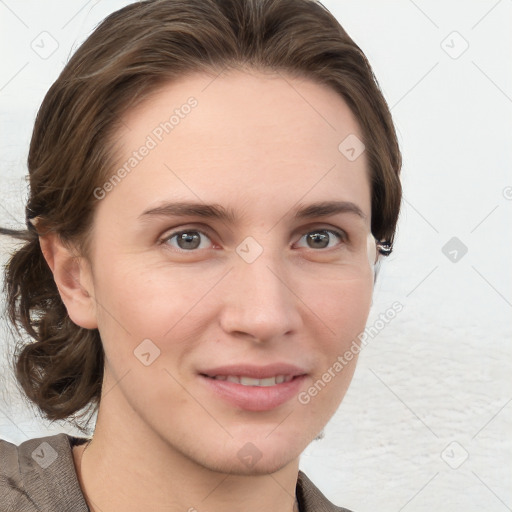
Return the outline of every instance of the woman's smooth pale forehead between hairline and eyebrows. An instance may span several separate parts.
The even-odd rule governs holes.
[[[366,154],[351,161],[339,149],[354,136],[363,138],[357,119],[325,85],[260,71],[191,75],[125,114],[117,163],[129,175],[111,196],[139,209],[173,196],[260,208],[357,199],[369,217]]]

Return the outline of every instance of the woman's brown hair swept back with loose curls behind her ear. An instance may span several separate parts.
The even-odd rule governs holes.
[[[128,5],[81,45],[41,104],[28,156],[28,230],[17,234],[25,242],[5,271],[9,318],[30,337],[14,355],[16,378],[48,419],[73,416],[81,428],[74,415],[99,405],[104,354],[98,330],[70,320],[30,220],[87,256],[93,190],[112,174],[122,115],[185,74],[244,67],[314,80],[344,98],[364,135],[372,233],[382,253],[391,251],[401,203],[395,129],[365,55],[329,11],[313,0]]]

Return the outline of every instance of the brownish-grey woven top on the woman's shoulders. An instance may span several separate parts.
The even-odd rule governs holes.
[[[0,439],[0,512],[90,512],[72,454],[86,441],[64,433],[19,446]],[[296,495],[300,512],[350,512],[333,505],[302,471]]]

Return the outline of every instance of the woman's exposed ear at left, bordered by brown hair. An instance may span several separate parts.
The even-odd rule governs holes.
[[[73,323],[85,329],[96,329],[96,301],[88,261],[76,256],[57,233],[39,236],[39,244]]]

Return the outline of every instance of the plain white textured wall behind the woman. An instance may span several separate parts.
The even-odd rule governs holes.
[[[46,91],[127,3],[0,3],[2,226],[24,225],[26,156]],[[394,301],[404,309],[363,350],[301,468],[357,512],[511,510],[512,2],[324,5],[366,53],[399,134],[403,210],[368,325]],[[0,244],[5,264],[14,244]],[[4,319],[0,329],[5,362]],[[0,370],[0,438],[75,433],[38,419]]]

